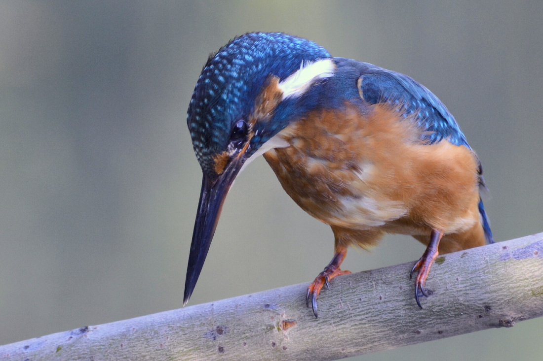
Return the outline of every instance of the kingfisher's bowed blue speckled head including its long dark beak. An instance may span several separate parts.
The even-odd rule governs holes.
[[[286,146],[275,134],[317,106],[318,85],[334,68],[324,48],[282,33],[239,36],[207,60],[187,112],[204,177],[184,304],[204,265],[233,180],[258,154]]]

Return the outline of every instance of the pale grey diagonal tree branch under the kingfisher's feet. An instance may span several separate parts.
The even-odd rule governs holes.
[[[333,360],[543,315],[543,233],[439,256],[414,300],[413,263],[82,327],[0,346],[2,360]]]

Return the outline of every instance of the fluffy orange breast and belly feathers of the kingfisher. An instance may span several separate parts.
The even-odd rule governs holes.
[[[421,144],[413,124],[383,106],[314,111],[279,134],[290,146],[264,157],[294,201],[325,223],[410,234],[418,225],[467,227],[465,209],[477,211],[475,157],[447,141]]]

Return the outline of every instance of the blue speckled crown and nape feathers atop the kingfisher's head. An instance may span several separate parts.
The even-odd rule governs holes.
[[[300,68],[303,61],[326,57],[330,54],[323,47],[283,33],[245,34],[210,55],[187,112],[194,151],[204,171],[212,173],[210,155],[228,144],[232,125],[250,113],[269,74],[282,80]],[[277,128],[273,130],[258,132],[259,137],[267,135],[260,143],[273,136],[266,133],[286,125],[275,124]]]

